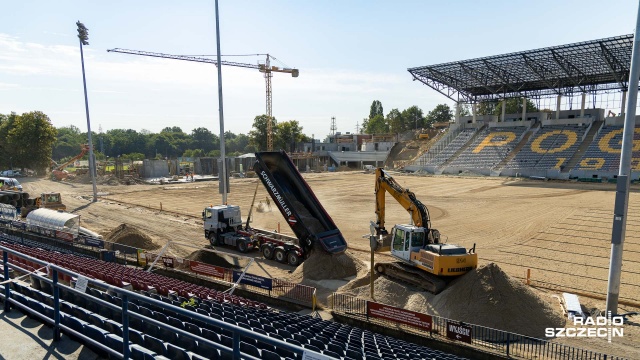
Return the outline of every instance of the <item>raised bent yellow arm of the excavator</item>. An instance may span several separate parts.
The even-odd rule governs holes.
[[[376,168],[376,231],[378,235],[386,235],[385,223],[385,194],[389,193],[411,215],[413,224],[431,230],[429,210],[416,198],[416,195],[404,189],[384,169]]]

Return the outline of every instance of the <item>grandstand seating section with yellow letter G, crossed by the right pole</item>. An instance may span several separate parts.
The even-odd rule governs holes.
[[[575,170],[618,171],[622,148],[622,126],[603,126],[584,156],[574,167]],[[636,128],[633,141],[640,143],[640,129]],[[632,169],[639,170],[640,150],[633,151]]]

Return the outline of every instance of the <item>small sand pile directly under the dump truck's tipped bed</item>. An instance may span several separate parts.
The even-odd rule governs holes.
[[[331,255],[323,250],[312,250],[309,258],[296,268],[290,280],[302,282],[344,279],[358,275],[363,268],[364,263],[349,252]]]

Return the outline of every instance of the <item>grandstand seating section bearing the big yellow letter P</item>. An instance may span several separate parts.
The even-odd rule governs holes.
[[[462,168],[495,167],[515,148],[518,139],[527,130],[524,126],[484,128],[449,165]]]

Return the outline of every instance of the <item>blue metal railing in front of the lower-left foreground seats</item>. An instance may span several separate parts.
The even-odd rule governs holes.
[[[130,354],[130,347],[129,347],[129,331],[130,331],[130,327],[129,327],[129,323],[130,323],[130,319],[131,318],[137,318],[140,320],[143,320],[144,322],[148,322],[151,323],[155,326],[159,326],[161,328],[170,330],[172,332],[175,332],[176,334],[179,334],[180,336],[185,336],[185,337],[189,337],[191,339],[194,339],[196,341],[198,341],[198,343],[205,343],[209,346],[212,346],[218,350],[220,350],[221,352],[230,354],[233,356],[234,359],[239,359],[241,354],[242,354],[242,358],[247,358],[247,359],[258,359],[254,356],[242,353],[240,351],[240,337],[247,337],[247,338],[251,338],[251,339],[255,339],[258,341],[261,341],[265,344],[268,345],[272,345],[272,346],[276,346],[278,348],[282,348],[282,349],[286,349],[289,351],[292,351],[300,356],[302,356],[302,354],[304,353],[310,353],[313,354],[314,356],[318,356],[321,357],[322,355],[316,352],[313,352],[311,350],[308,349],[304,349],[300,346],[296,346],[266,335],[262,335],[259,333],[255,333],[249,329],[244,329],[238,326],[234,326],[234,325],[230,325],[228,323],[225,323],[224,321],[221,320],[217,320],[202,314],[198,314],[196,312],[193,311],[189,311],[186,309],[183,309],[182,307],[178,307],[178,306],[174,306],[150,297],[146,297],[140,294],[137,294],[135,292],[132,291],[128,291],[119,287],[115,287],[115,286],[111,286],[109,284],[106,284],[102,281],[99,280],[94,280],[94,279],[90,279],[90,278],[84,278],[82,277],[82,275],[73,272],[71,270],[65,269],[63,267],[60,267],[58,265],[52,264],[52,263],[48,263],[45,261],[42,261],[40,259],[31,257],[29,255],[20,253],[18,251],[15,251],[9,247],[6,246],[2,246],[0,245],[0,251],[2,251],[2,258],[3,258],[3,274],[4,274],[4,293],[0,294],[0,298],[2,298],[4,300],[4,310],[5,311],[9,311],[10,310],[10,305],[17,307],[19,309],[21,309],[23,312],[29,313],[31,315],[36,316],[37,318],[41,319],[42,321],[50,324],[51,326],[53,326],[53,333],[54,333],[54,341],[58,341],[60,340],[60,334],[61,331],[64,331],[67,334],[73,335],[79,339],[82,339],[85,343],[90,344],[91,346],[93,346],[94,348],[98,348],[106,353],[108,353],[109,355],[115,356],[117,358],[120,359],[129,359],[131,354]],[[50,273],[51,273],[51,279],[49,279],[46,276],[42,276],[40,274],[38,274],[37,272],[30,272],[27,269],[24,269],[16,264],[12,264],[9,263],[8,261],[8,256],[9,254],[13,254],[16,255],[22,259],[25,259],[26,261],[29,261],[31,263],[36,263],[42,267],[46,267]],[[13,269],[13,270],[17,270],[19,272],[23,272],[23,273],[27,273],[30,274],[31,276],[37,278],[39,281],[43,281],[47,284],[50,284],[52,287],[52,292],[53,292],[53,314],[52,316],[47,316],[43,313],[37,312],[34,309],[30,308],[29,306],[26,306],[22,303],[20,303],[19,301],[17,301],[16,299],[14,299],[11,295],[12,290],[11,290],[11,280],[9,280],[9,269]],[[114,305],[112,303],[109,303],[107,301],[104,301],[100,298],[94,297],[90,294],[87,294],[85,292],[81,292],[76,290],[75,288],[63,285],[61,283],[58,282],[58,275],[59,273],[63,273],[66,274],[68,276],[72,276],[72,277],[77,277],[77,278],[84,278],[88,281],[88,284],[94,286],[94,287],[98,287],[98,288],[102,288],[105,289],[108,293],[110,294],[115,294],[115,296],[119,297],[122,300],[122,306],[117,306]],[[122,314],[122,351],[118,352],[110,347],[107,347],[106,345],[104,345],[101,341],[96,340],[91,338],[90,336],[87,336],[85,333],[83,332],[78,332],[75,329],[64,325],[62,323],[62,316],[61,316],[61,311],[60,311],[60,292],[61,290],[63,291],[67,291],[67,292],[71,292],[76,296],[82,297],[85,300],[91,301],[91,302],[95,302],[97,303],[99,306],[103,306],[103,307],[108,307],[111,310],[115,310],[115,311],[119,311]],[[194,321],[200,321],[201,323],[207,324],[207,325],[211,325],[211,326],[216,326],[220,329],[224,329],[227,331],[230,331],[233,334],[233,347],[227,347],[224,346],[220,343],[216,343],[213,342],[209,339],[205,339],[202,336],[198,336],[195,335],[193,333],[187,332],[185,330],[173,327],[171,325],[165,324],[163,322],[157,321],[153,318],[149,318],[146,317],[144,315],[138,314],[136,312],[132,312],[129,311],[129,301],[130,300],[135,300],[138,302],[144,302],[147,303],[151,306],[157,307],[157,308],[161,308],[163,310],[166,311],[171,311],[177,314],[180,314],[182,316],[187,316],[189,318],[194,319]],[[46,309],[47,305],[43,304],[43,307]],[[46,313],[46,311],[45,311]],[[138,344],[140,345],[140,344]],[[162,355],[162,354],[160,354]]]

